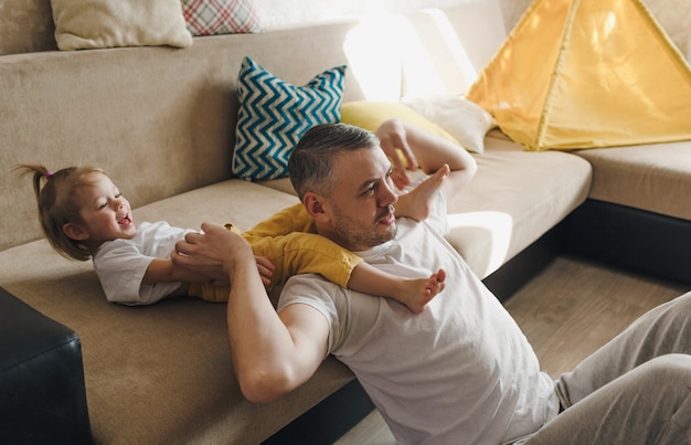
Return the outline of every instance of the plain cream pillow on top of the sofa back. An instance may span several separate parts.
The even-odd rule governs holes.
[[[51,0],[51,7],[61,50],[192,44],[180,0]]]

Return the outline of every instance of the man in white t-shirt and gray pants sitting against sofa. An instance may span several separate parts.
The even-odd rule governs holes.
[[[221,266],[232,283],[228,335],[245,396],[275,400],[332,353],[353,370],[401,443],[687,443],[691,297],[644,316],[552,382],[510,315],[442,236],[445,200],[470,180],[475,165],[463,150],[391,125],[396,129],[381,131],[386,153],[354,127],[308,130],[290,178],[318,232],[370,264],[401,276],[446,271],[445,290],[422,314],[315,275],[290,278],[275,311],[240,237],[204,224],[205,234],[179,244],[174,261]],[[410,142],[424,171],[448,172],[426,221],[393,218],[390,159],[398,158],[390,139],[404,150]]]

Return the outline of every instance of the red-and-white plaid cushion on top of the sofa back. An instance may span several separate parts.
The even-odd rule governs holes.
[[[192,35],[262,32],[252,0],[182,0],[181,3]]]

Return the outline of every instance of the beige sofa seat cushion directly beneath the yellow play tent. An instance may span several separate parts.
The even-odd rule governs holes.
[[[691,220],[691,141],[576,152],[593,166],[589,198]]]

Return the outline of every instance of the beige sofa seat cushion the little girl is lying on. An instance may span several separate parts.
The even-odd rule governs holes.
[[[236,179],[134,215],[139,222],[233,222],[248,229],[296,201]],[[353,379],[330,358],[294,393],[270,405],[253,404],[234,377],[226,305],[192,298],[145,307],[107,303],[91,263],[64,259],[44,241],[0,252],[0,268],[8,292],[79,336],[96,443],[259,443]]]

